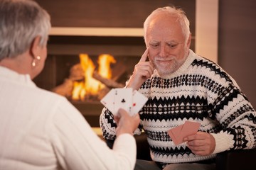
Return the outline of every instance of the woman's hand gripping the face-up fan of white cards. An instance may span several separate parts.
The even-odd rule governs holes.
[[[120,108],[117,115],[114,115],[114,120],[117,123],[116,135],[119,136],[122,133],[129,133],[134,135],[134,131],[139,126],[139,114],[129,115],[127,111]]]

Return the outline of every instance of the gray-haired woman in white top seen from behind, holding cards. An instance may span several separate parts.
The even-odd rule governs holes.
[[[113,149],[68,100],[39,89],[50,16],[30,0],[0,1],[0,169],[134,169],[139,115],[119,110]]]

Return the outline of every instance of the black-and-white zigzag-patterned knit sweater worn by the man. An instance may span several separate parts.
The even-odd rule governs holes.
[[[139,114],[155,162],[198,162],[225,150],[256,147],[256,113],[247,97],[218,64],[192,50],[174,74],[159,77],[155,70],[139,91],[149,98]],[[199,130],[213,135],[213,154],[193,154],[186,142],[174,145],[167,131],[186,120],[201,123]],[[106,108],[100,126],[105,139],[114,140],[116,125]]]

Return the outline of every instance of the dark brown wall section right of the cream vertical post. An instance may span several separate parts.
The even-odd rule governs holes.
[[[256,1],[219,1],[218,63],[256,108]]]

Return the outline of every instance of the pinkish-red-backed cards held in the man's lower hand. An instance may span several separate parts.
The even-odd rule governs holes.
[[[168,134],[171,137],[171,140],[173,140],[174,144],[179,145],[184,142],[184,137],[196,134],[200,125],[200,123],[186,121],[183,125],[179,125],[176,128],[168,130]]]

